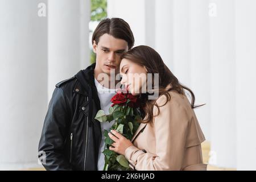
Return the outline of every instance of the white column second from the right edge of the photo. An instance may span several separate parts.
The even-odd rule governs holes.
[[[233,0],[212,0],[210,17],[210,164],[236,168],[236,61]],[[214,15],[214,14],[212,14]]]

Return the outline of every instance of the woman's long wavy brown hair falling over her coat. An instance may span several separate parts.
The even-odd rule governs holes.
[[[191,108],[194,109],[199,106],[195,106],[195,95],[191,89],[187,88],[187,86],[181,85],[177,78],[172,74],[170,69],[164,64],[161,56],[158,52],[148,46],[137,46],[133,49],[130,49],[126,53],[123,53],[121,56],[122,59],[128,59],[137,63],[139,65],[145,66],[147,68],[147,73],[152,73],[152,89],[154,89],[154,73],[159,73],[159,85],[158,85],[158,94],[159,97],[165,95],[167,97],[166,103],[171,99],[170,94],[168,93],[170,90],[176,90],[177,93],[185,96],[184,90],[188,90],[191,94]],[[169,89],[166,89],[168,85],[171,85]],[[166,105],[166,103],[164,105]],[[164,106],[162,105],[162,106]],[[159,114],[159,106],[156,104],[156,100],[148,100],[144,101],[142,112],[144,116],[147,116],[144,120],[139,122],[147,123],[152,121],[152,118],[157,116],[153,115],[153,108],[156,106],[158,108]]]

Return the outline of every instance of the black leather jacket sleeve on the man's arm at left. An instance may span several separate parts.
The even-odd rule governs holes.
[[[63,89],[55,88],[44,120],[39,142],[39,159],[47,170],[71,170],[64,156],[69,112]]]

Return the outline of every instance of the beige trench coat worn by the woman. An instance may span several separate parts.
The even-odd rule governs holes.
[[[141,123],[125,150],[130,167],[136,170],[206,170],[201,143],[205,140],[188,98],[169,91],[156,100],[160,113],[149,123]],[[154,106],[154,115],[157,108]]]

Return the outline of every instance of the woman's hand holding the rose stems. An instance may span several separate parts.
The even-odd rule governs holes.
[[[114,141],[112,146],[109,147],[109,150],[113,150],[117,152],[118,154],[125,155],[126,148],[133,146],[133,143],[123,135],[119,134],[115,130],[111,130],[111,133],[109,133],[109,137]]]

